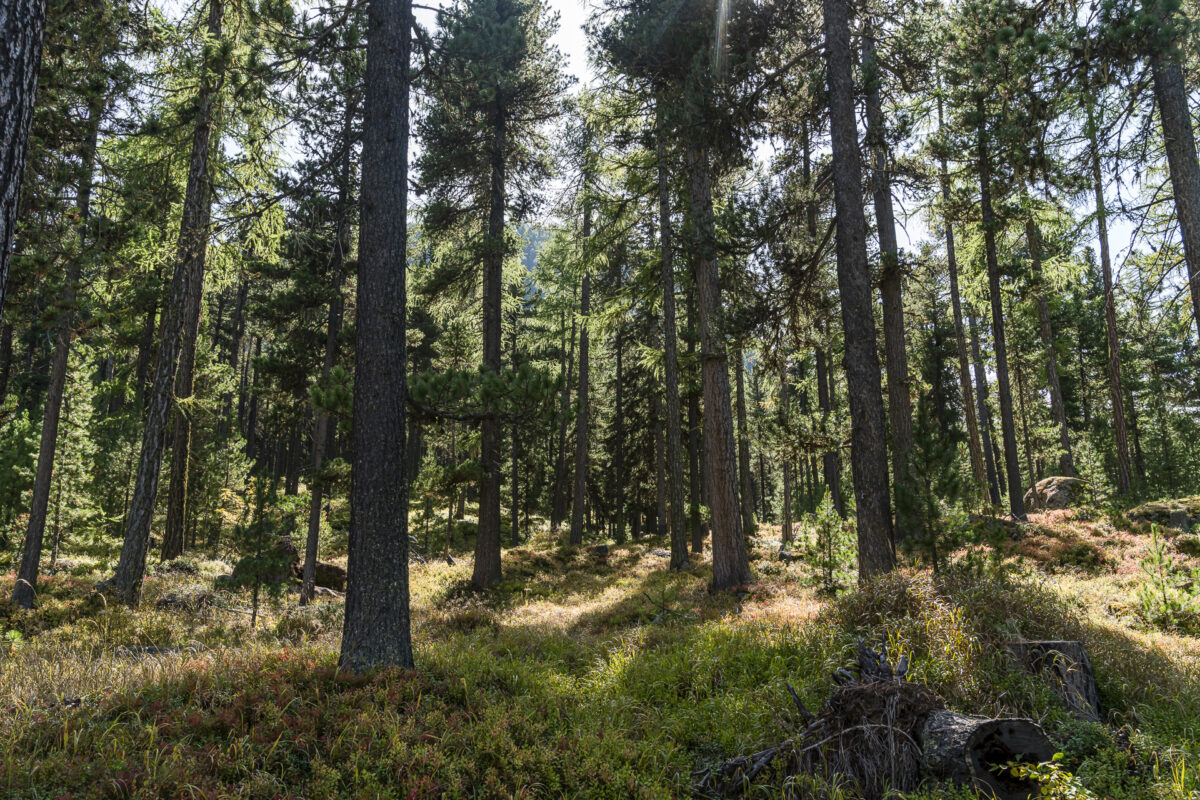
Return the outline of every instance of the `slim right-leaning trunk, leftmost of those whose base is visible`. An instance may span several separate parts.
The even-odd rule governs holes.
[[[96,145],[100,140],[100,120],[107,101],[95,97],[88,106],[88,137],[79,163],[79,190],[76,194],[76,212],[79,216],[79,253],[67,265],[59,319],[54,336],[54,359],[50,362],[50,380],[46,390],[46,409],[42,415],[42,444],[37,453],[37,473],[34,479],[34,495],[25,529],[25,552],[12,591],[12,602],[20,608],[32,608],[37,594],[37,573],[42,558],[42,537],[46,531],[46,510],[50,499],[50,480],[54,476],[54,452],[59,440],[59,414],[62,410],[62,393],[66,386],[67,363],[71,356],[71,337],[74,333],[76,291],[83,272],[83,260],[88,257],[88,219],[91,216],[91,187],[96,167]],[[4,399],[0,392],[0,401]],[[61,482],[60,482],[61,486]],[[55,542],[58,539],[55,537]]]

